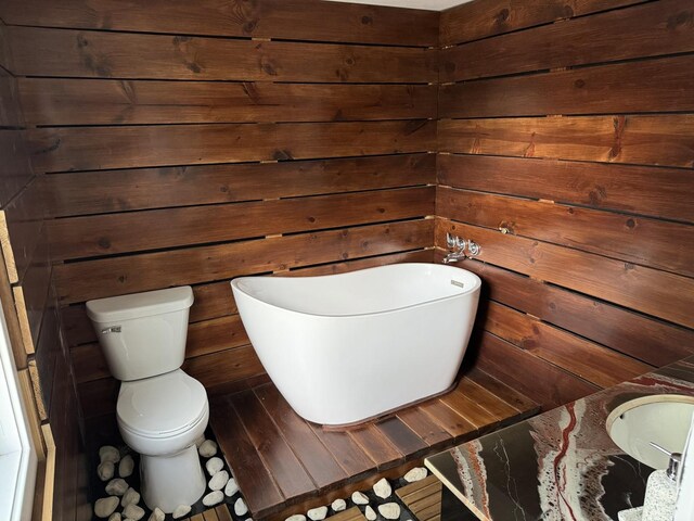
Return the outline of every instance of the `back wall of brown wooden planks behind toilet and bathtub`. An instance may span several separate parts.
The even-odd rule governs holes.
[[[9,0],[0,16],[88,416],[116,390],[90,298],[193,285],[184,369],[229,390],[264,378],[231,278],[433,258],[438,13]]]

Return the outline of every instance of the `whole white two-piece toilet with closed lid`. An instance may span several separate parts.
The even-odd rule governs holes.
[[[87,303],[111,373],[120,383],[118,429],[141,456],[144,503],[171,513],[205,492],[195,441],[209,419],[202,383],[180,367],[185,357],[190,287]]]

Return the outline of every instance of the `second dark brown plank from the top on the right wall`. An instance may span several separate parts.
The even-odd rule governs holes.
[[[690,0],[660,0],[441,51],[441,80],[694,51]]]

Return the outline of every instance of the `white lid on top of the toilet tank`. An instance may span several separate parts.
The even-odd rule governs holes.
[[[193,304],[190,285],[111,296],[87,303],[87,316],[94,322],[116,322],[187,309]]]

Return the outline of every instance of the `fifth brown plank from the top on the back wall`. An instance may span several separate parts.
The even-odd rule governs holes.
[[[61,217],[433,185],[436,155],[80,171],[44,182]]]

